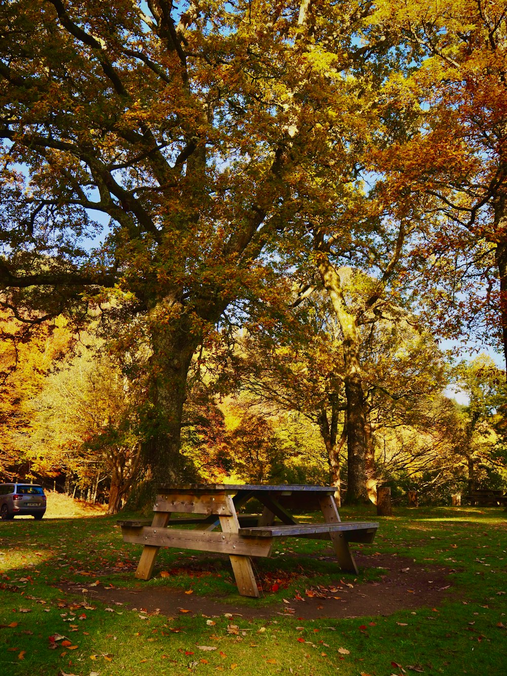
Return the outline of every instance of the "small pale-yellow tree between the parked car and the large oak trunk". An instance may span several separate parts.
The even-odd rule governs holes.
[[[82,348],[47,375],[27,408],[32,466],[40,473],[75,474],[93,493],[105,482],[108,511],[118,512],[139,475],[143,439],[139,393],[118,366]]]

